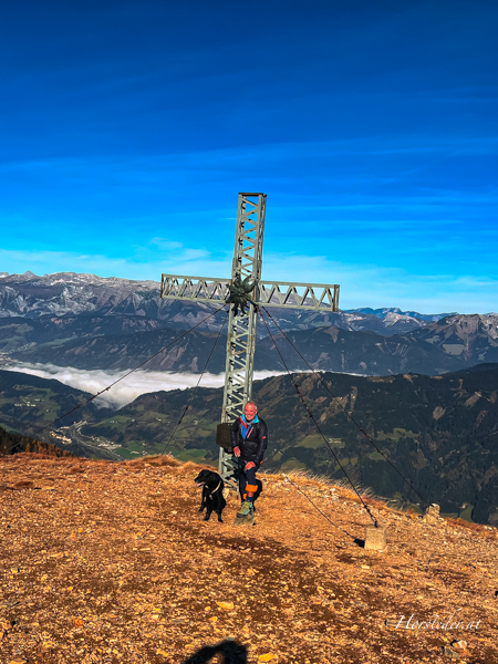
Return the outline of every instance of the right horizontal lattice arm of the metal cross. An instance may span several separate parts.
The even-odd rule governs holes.
[[[259,282],[258,304],[315,311],[339,311],[339,286],[330,283]]]

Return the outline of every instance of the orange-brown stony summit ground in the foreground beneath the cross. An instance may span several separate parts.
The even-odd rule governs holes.
[[[1,664],[179,664],[227,637],[249,663],[498,662],[496,529],[371,500],[388,549],[369,551],[353,494],[282,475],[256,526],[235,496],[205,522],[199,469],[0,458]]]

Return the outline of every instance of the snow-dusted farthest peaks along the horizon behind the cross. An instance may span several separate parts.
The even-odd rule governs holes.
[[[124,315],[167,321],[169,326],[185,328],[185,323],[191,326],[200,322],[205,318],[203,313],[214,309],[214,305],[203,302],[160,300],[159,283],[156,281],[132,281],[76,272],[43,277],[30,271],[23,274],[0,272],[0,318]],[[292,329],[334,323],[346,330],[370,330],[381,334],[386,331],[390,334],[406,332],[446,315],[449,314],[403,312],[397,308],[354,309],[332,314],[286,309],[280,312],[279,319],[284,328],[290,325]],[[216,329],[217,325],[208,322],[206,328]]]

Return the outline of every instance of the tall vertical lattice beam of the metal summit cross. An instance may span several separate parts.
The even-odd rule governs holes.
[[[261,279],[266,203],[264,194],[239,194],[231,281],[234,282],[238,276],[242,280],[249,278],[256,284],[255,291]],[[234,422],[242,413],[243,404],[251,398],[256,324],[257,311],[252,304],[249,304],[247,311],[239,310],[237,314],[230,309],[222,423]],[[234,470],[232,455],[220,448],[219,474],[231,484]]]

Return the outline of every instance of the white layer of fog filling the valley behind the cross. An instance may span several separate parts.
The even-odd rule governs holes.
[[[15,366],[9,366],[9,371],[32,374],[41,378],[55,378],[64,385],[76,387],[91,394],[96,394],[105,390],[111,383],[124,376],[127,371],[85,371],[73,369],[72,366],[55,366],[54,364],[28,364],[19,363]],[[255,381],[268,378],[270,376],[281,375],[278,371],[255,371]],[[185,387],[195,387],[199,380],[199,374],[174,373],[162,371],[135,371],[123,381],[104,392],[95,400],[95,404],[121,408],[134,401],[141,394],[146,392],[158,392],[159,390],[184,390]],[[225,374],[205,373],[200,381],[200,387],[222,387],[225,384]]]

